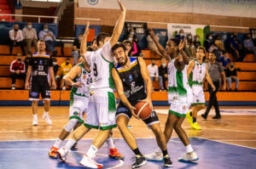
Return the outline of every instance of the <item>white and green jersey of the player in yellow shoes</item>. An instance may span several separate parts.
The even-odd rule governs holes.
[[[203,62],[202,64],[200,64],[196,59],[194,61],[195,61],[195,67],[189,75],[190,87],[192,87],[193,85],[201,86],[207,73],[206,63]]]

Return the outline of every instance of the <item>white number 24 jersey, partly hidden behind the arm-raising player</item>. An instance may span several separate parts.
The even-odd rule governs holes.
[[[90,92],[90,85],[93,82],[93,77],[91,76],[90,71],[84,69],[83,63],[80,63],[76,66],[79,66],[81,68],[81,76],[75,77],[73,79],[73,82],[82,82],[84,85],[82,85],[82,87],[72,87],[70,92],[71,104],[73,103],[73,99],[76,96],[88,98]]]

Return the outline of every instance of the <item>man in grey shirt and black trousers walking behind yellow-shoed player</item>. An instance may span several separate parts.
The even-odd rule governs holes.
[[[224,82],[224,85],[222,86],[222,89],[223,90],[226,89],[225,74],[224,74],[224,70],[223,70],[222,66],[219,65],[218,62],[216,62],[216,56],[215,56],[214,53],[209,54],[209,61],[210,62],[208,63],[208,72],[209,72],[209,75],[212,78],[212,82],[213,82],[214,86],[216,87],[216,90],[213,91],[211,85],[208,83],[210,99],[209,99],[209,103],[207,105],[207,110],[206,110],[205,114],[202,114],[201,116],[204,119],[207,119],[207,115],[209,114],[209,112],[212,108],[212,105],[213,105],[216,115],[213,116],[212,119],[220,119],[221,115],[219,113],[218,100],[217,100],[216,95],[217,95],[218,87],[219,87],[219,76],[221,76],[221,80],[222,80],[222,82]]]

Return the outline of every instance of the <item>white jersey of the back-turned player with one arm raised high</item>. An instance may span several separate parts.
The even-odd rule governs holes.
[[[114,88],[111,73],[114,67],[111,48],[110,42],[108,41],[102,48],[99,48],[95,52],[86,52],[84,55],[87,63],[90,64],[90,70],[94,79],[90,86],[91,89]]]

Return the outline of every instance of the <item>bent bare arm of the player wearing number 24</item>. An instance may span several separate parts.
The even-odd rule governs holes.
[[[63,80],[67,83],[69,86],[73,87],[82,87],[82,82],[73,82],[73,79],[75,77],[81,76],[81,67],[79,65],[75,65],[72,70],[70,70],[66,76],[63,77]]]

